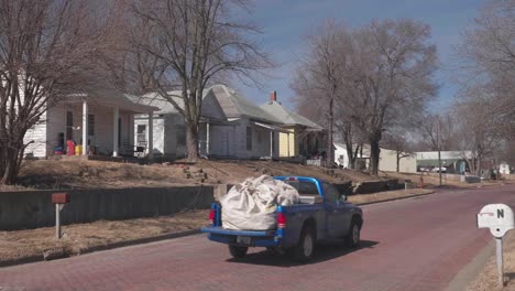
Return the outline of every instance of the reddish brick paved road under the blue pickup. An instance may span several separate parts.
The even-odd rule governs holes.
[[[304,266],[260,250],[233,261],[226,246],[197,235],[2,268],[0,290],[441,290],[491,240],[475,228],[481,206],[515,207],[514,192],[487,187],[365,206],[361,249],[319,246]]]

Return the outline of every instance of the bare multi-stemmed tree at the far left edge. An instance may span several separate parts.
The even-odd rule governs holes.
[[[0,184],[15,182],[25,132],[46,109],[95,83],[86,76],[95,69],[91,60],[102,42],[103,22],[91,4],[0,1]]]

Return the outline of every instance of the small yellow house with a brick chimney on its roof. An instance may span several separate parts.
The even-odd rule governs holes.
[[[278,147],[281,158],[311,158],[327,152],[326,131],[317,123],[286,108],[277,101],[273,91],[270,101],[261,108],[281,121],[286,132],[280,132]]]

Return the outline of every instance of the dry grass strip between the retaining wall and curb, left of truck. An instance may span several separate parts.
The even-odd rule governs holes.
[[[154,218],[66,225],[61,241],[55,239],[54,227],[0,231],[0,262],[43,256],[44,251],[54,249],[64,249],[73,256],[92,247],[198,229],[208,224],[208,213],[191,211]]]

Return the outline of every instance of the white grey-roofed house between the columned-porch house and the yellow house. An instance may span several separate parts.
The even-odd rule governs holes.
[[[171,95],[173,93],[169,93]],[[178,96],[178,95],[177,95]],[[215,85],[204,93],[199,125],[201,155],[229,159],[278,158],[278,133],[282,121],[224,85]],[[177,97],[178,105],[182,99]],[[183,117],[157,94],[145,95],[139,104],[156,106],[153,131],[154,154],[177,159],[186,154],[186,131]],[[146,115],[136,117],[134,142],[149,139]]]

